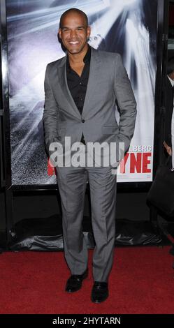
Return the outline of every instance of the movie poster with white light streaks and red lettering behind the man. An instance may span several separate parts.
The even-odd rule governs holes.
[[[7,0],[6,6],[12,185],[57,183],[45,154],[43,82],[47,64],[65,55],[57,29],[72,7],[89,17],[89,45],[122,55],[136,96],[136,129],[117,181],[152,181],[158,1]]]

